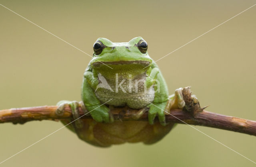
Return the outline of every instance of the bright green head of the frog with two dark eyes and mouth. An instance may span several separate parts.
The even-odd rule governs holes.
[[[93,49],[93,58],[90,61],[93,69],[105,68],[106,65],[112,68],[120,65],[136,65],[144,68],[152,63],[147,51],[148,44],[142,37],[135,37],[129,42],[122,43],[98,38]]]

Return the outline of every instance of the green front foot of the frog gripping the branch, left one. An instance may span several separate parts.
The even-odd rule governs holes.
[[[106,105],[98,104],[94,106],[86,106],[86,108],[96,122],[114,122],[114,117],[109,112],[110,109]]]

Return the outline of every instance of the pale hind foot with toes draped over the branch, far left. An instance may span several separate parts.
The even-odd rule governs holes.
[[[78,111],[78,108],[81,107],[82,110],[84,111],[84,113],[87,113],[87,110],[84,106],[84,103],[82,101],[77,102],[77,101],[67,101],[67,100],[62,100],[60,102],[57,103],[58,108],[56,109],[56,114],[57,115],[62,115],[64,113],[64,109],[67,106],[70,106],[71,111],[72,111],[72,115],[73,115],[73,119],[75,122],[75,128],[82,128],[83,127],[83,122],[82,120],[79,118],[80,114]]]

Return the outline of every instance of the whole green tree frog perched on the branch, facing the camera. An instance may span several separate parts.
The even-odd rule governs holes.
[[[162,139],[174,124],[166,124],[165,115],[170,108],[184,108],[182,88],[168,96],[167,84],[160,69],[148,55],[148,44],[142,37],[129,42],[113,43],[106,38],[98,38],[93,45],[92,60],[84,72],[82,101],[58,102],[56,113],[64,107],[72,108],[72,120],[62,120],[78,137],[92,145],[108,147],[125,142],[155,143]],[[171,105],[168,102],[171,100]],[[148,121],[114,120],[110,107],[127,106],[145,108]],[[78,107],[93,119],[80,119]],[[157,121],[154,121],[155,118]],[[79,119],[78,119],[79,118]]]

